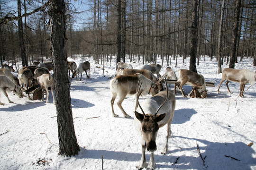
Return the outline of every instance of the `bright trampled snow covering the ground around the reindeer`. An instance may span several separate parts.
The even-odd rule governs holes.
[[[256,170],[256,85],[246,85],[245,98],[238,98],[239,84],[231,82],[228,93],[225,82],[217,88],[221,79],[218,63],[206,57],[197,66],[199,74],[215,87],[207,87],[205,99],[183,98],[177,90],[176,108],[172,122],[172,137],[169,139],[169,153],[162,155],[166,126],[158,131],[155,151],[156,170]],[[68,60],[73,60],[69,58]],[[77,57],[77,64],[88,58]],[[83,73],[82,81],[73,79],[70,87],[75,133],[81,151],[72,157],[59,156],[56,108],[52,94],[49,103],[22,99],[9,93],[14,103],[4,95],[0,106],[0,170],[101,170],[102,156],[104,170],[136,170],[141,158],[141,145],[133,125],[135,98],[127,97],[122,106],[131,118],[123,118],[116,102],[113,118],[109,88],[110,77],[115,75],[115,60],[107,63],[102,76],[101,64],[91,63],[91,79]],[[140,64],[128,62],[135,69]],[[158,63],[161,64],[160,59]],[[178,58],[171,67],[189,68],[189,59]],[[165,68],[161,70],[163,75]],[[228,66],[224,65],[223,68]],[[244,59],[236,68],[255,71],[252,59]],[[17,76],[17,72],[14,73]],[[80,76],[79,76],[80,78]],[[169,86],[173,91],[174,85]],[[188,94],[192,87],[183,86]],[[140,97],[142,102],[146,97]],[[237,100],[236,100],[237,99]],[[199,151],[205,163],[200,157]],[[234,160],[230,157],[240,161]],[[150,153],[146,151],[146,160]],[[177,160],[176,163],[174,163]],[[46,162],[43,162],[46,161]],[[173,164],[174,163],[174,164]]]

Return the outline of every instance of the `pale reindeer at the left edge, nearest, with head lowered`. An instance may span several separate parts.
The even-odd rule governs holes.
[[[6,92],[7,90],[12,91],[19,98],[23,97],[23,94],[18,85],[15,85],[7,76],[0,76],[0,91],[4,93],[4,95],[7,97],[9,103],[13,103],[12,101],[10,101],[8,97],[8,94]],[[4,103],[0,101],[0,105],[3,105],[3,104]]]

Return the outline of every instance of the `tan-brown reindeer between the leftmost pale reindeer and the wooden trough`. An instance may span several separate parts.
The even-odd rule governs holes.
[[[18,79],[21,84],[21,90],[23,93],[25,87],[32,87],[33,73],[29,68],[22,69],[20,72],[18,72]],[[27,98],[32,100],[29,96],[29,93],[27,94]]]

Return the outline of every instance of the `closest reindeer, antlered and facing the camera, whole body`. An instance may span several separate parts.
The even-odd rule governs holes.
[[[165,82],[166,83],[166,82]],[[135,111],[134,126],[140,135],[142,145],[142,156],[137,166],[137,169],[146,168],[146,149],[151,152],[150,160],[147,165],[147,170],[155,169],[154,152],[156,151],[156,136],[158,129],[167,124],[167,135],[165,139],[165,146],[162,154],[168,153],[168,139],[172,134],[171,123],[174,119],[175,97],[174,94],[168,91],[160,92],[155,96],[146,99],[140,106],[138,102],[140,88],[137,91],[136,102],[140,108],[139,113]],[[144,111],[145,110],[145,111]]]

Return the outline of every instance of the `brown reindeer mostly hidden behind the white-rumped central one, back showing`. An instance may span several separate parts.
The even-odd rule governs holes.
[[[154,82],[157,85],[158,90],[163,91],[164,87],[161,81],[158,81],[156,76],[149,70],[146,69],[123,69],[123,68],[118,68],[116,71],[117,76],[118,75],[134,75],[136,73],[140,73],[143,76],[146,76],[149,80]]]

